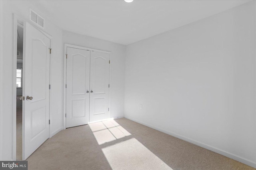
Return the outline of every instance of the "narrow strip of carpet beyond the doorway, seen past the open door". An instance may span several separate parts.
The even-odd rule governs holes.
[[[16,160],[22,160],[22,109],[16,110]]]

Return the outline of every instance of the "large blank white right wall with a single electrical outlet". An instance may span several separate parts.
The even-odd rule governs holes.
[[[249,2],[128,45],[125,117],[256,168],[255,16]]]

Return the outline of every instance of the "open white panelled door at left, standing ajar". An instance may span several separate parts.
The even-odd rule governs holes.
[[[49,138],[50,77],[50,39],[27,22],[24,33],[23,160]]]

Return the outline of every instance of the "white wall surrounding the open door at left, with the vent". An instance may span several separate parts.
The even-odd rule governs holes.
[[[40,6],[34,6],[29,1],[0,1],[1,11],[1,59],[0,59],[0,159],[13,159],[13,106],[16,92],[13,90],[12,75],[14,72],[13,61],[13,13],[17,14],[24,20],[29,20],[29,8],[38,12],[45,20],[44,31],[52,35],[51,47],[51,65],[50,65],[50,112],[51,125],[50,135],[54,135],[63,129],[63,45],[62,29],[50,23],[47,13]],[[3,24],[4,23],[4,24]],[[15,108],[16,109],[16,108]],[[57,112],[58,110],[58,112]]]

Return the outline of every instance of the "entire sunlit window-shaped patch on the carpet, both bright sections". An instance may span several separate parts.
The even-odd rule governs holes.
[[[172,170],[114,120],[89,124],[113,170]]]

